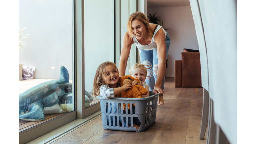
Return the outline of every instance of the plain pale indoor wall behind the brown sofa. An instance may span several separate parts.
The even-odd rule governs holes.
[[[168,68],[165,75],[174,77],[174,61],[181,60],[184,48],[198,50],[196,30],[190,6],[148,8],[150,14],[156,13],[163,20],[171,42],[168,52]]]

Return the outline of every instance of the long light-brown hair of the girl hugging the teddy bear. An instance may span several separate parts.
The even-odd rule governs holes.
[[[96,70],[95,77],[93,80],[92,95],[94,97],[100,95],[100,87],[102,85],[107,85],[110,88],[110,85],[108,84],[107,76],[105,74],[105,68],[108,65],[111,65],[114,68],[116,68],[117,73],[119,73],[116,64],[114,64],[112,62],[107,61],[107,62],[100,64]]]

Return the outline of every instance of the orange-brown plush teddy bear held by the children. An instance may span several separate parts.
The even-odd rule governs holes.
[[[125,75],[122,77],[119,77],[119,84],[120,86],[123,86],[124,84],[132,84],[132,82],[136,80],[139,83],[139,79],[138,78],[134,78],[132,76],[129,75]],[[142,95],[146,95],[148,93],[147,89],[144,88],[143,86],[140,85],[134,85],[132,86],[132,88],[129,88],[127,90],[124,90],[120,93],[117,94],[116,97],[125,97],[125,98],[142,98]],[[133,104],[133,106],[135,106]],[[128,109],[130,109],[130,104],[128,104]],[[123,108],[125,109],[125,104],[123,104]]]

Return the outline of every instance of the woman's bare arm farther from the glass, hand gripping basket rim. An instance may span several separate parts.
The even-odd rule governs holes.
[[[165,33],[161,28],[155,35],[155,43],[157,45],[157,57],[158,57],[158,72],[156,84],[154,87],[154,93],[163,94],[161,85],[165,76],[165,59],[166,59],[166,44],[165,44]]]

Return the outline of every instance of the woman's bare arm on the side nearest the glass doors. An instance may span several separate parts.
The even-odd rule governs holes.
[[[121,77],[125,75],[127,60],[129,58],[131,46],[133,43],[134,43],[133,39],[131,39],[129,37],[129,32],[127,31],[123,37],[123,45],[122,45],[120,61],[119,61],[119,68],[118,68],[119,76],[121,76]]]

